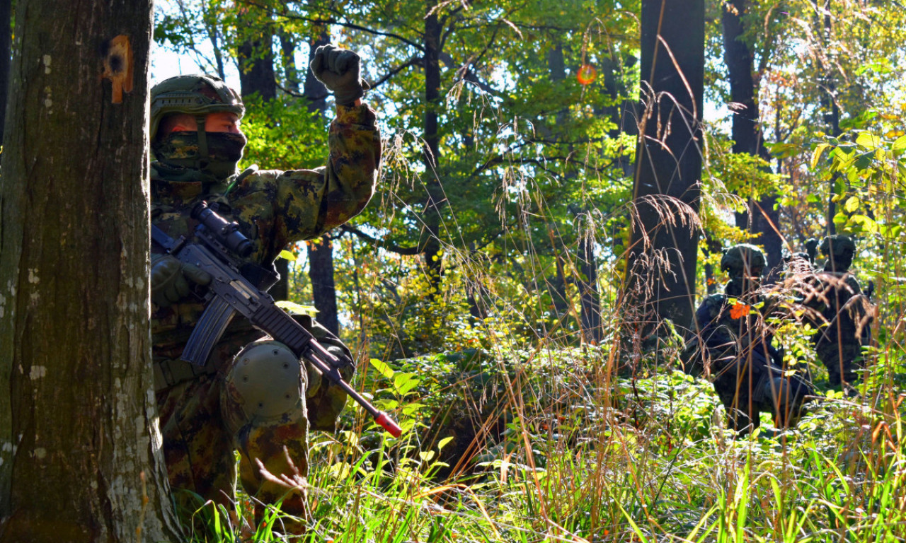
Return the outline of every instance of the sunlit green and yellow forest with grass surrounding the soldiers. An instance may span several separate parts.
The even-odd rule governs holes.
[[[653,0],[156,5],[152,81],[172,52],[191,59],[182,71],[236,85],[244,166],[323,164],[333,105],[306,71],[316,46],[360,52],[371,83],[378,192],[350,224],[284,252],[277,296],[342,336],[354,385],[404,433],[350,406],[339,433],[313,435],[313,540],[906,533],[906,13],[869,0],[667,4],[667,16]],[[660,58],[689,76],[670,95],[646,84],[652,20],[689,40]],[[651,114],[674,100],[686,108],[675,119]],[[647,211],[640,132],[665,148],[686,132],[672,157],[701,164]],[[652,220],[670,243],[640,233]],[[777,322],[819,397],[797,428],[766,416],[737,439],[708,382],[679,371],[690,302],[726,281],[729,245],[762,246],[777,281],[785,254],[828,233],[854,237],[854,271],[874,288],[861,395],[824,386],[814,329]],[[641,246],[656,258],[629,250]],[[672,326],[640,325],[640,307]],[[207,521],[236,540],[225,518]]]

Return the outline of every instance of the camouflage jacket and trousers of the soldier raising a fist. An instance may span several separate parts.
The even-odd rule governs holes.
[[[174,133],[167,142],[169,158],[185,152],[198,154],[198,143],[188,133]],[[187,136],[187,141],[180,138]],[[210,137],[210,134],[208,135]],[[159,146],[160,147],[160,146]],[[337,106],[329,133],[330,155],[326,167],[314,170],[265,170],[250,168],[240,176],[219,179],[193,167],[174,166],[177,160],[152,163],[152,222],[170,237],[191,233],[196,221],[190,210],[200,200],[217,205],[217,213],[236,221],[254,244],[251,262],[269,267],[289,243],[315,238],[361,212],[373,193],[381,159],[381,141],[375,115],[367,106]],[[156,151],[157,152],[157,151]],[[157,245],[152,252],[161,252]],[[153,255],[152,255],[153,256]],[[153,273],[152,273],[153,278]],[[152,283],[153,287],[153,283]],[[275,417],[250,417],[243,400],[226,376],[239,364],[236,353],[262,338],[246,319],[236,318],[226,329],[205,367],[193,367],[178,358],[204,306],[187,298],[169,307],[152,307],[155,381],[169,480],[178,500],[189,500],[192,491],[233,509],[236,481],[234,450],[239,452],[239,481],[255,497],[255,518],[263,504],[283,500],[282,509],[304,518],[304,491],[265,479],[256,462],[277,477],[307,474],[307,437],[311,426],[333,431],[346,395],[323,379],[316,390],[307,390],[302,365],[286,380],[286,397],[294,407]],[[338,338],[307,317],[302,324],[334,354],[350,356]],[[236,357],[236,358],[235,358]],[[352,376],[352,367],[342,373]],[[275,395],[283,395],[275,390]],[[307,395],[307,398],[306,398]],[[297,397],[296,397],[297,396]],[[293,469],[293,464],[294,468]],[[257,501],[257,500],[260,500]],[[301,533],[304,524],[278,531]]]

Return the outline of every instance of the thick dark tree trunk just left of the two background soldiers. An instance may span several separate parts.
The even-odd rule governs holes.
[[[704,9],[704,0],[641,3],[646,103],[625,288],[631,326],[643,335],[661,319],[689,327],[694,313],[699,229],[695,216],[681,215],[699,211]]]

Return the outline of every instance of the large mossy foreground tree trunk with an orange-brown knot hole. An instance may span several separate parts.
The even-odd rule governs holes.
[[[150,359],[151,5],[20,0],[15,28],[0,541],[177,541]]]

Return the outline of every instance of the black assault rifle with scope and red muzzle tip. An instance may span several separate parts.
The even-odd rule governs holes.
[[[251,254],[253,247],[248,238],[239,232],[239,225],[227,223],[208,207],[207,202],[199,202],[192,208],[192,218],[198,220],[195,237],[201,243],[188,243],[186,236],[174,240],[157,225],[151,225],[151,238],[155,243],[180,262],[197,266],[211,276],[204,294],[207,307],[195,329],[192,329],[181,358],[204,366],[211,349],[239,313],[255,328],[264,330],[271,338],[290,348],[296,357],[311,361],[324,377],[364,407],[374,417],[374,422],[394,437],[400,437],[400,426],[343,380],[340,368],[352,364],[352,360],[345,356],[342,359],[333,356],[315,340],[311,332],[275,304],[267,293],[275,282],[275,274],[242,260]]]

